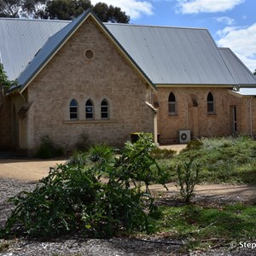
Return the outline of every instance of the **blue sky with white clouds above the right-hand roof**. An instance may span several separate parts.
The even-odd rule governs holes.
[[[120,7],[133,24],[205,27],[218,46],[256,69],[256,0],[91,0],[97,2]]]

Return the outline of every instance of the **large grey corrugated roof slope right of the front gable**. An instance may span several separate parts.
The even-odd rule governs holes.
[[[105,25],[154,84],[236,84],[207,29]]]

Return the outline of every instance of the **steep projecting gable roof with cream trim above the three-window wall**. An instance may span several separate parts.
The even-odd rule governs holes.
[[[108,36],[108,38],[115,44],[117,49],[125,56],[125,59],[131,63],[133,67],[137,70],[141,77],[155,90],[154,84],[147,75],[143,73],[143,70],[137,66],[135,61],[132,60],[131,56],[122,48],[119,42],[113,37],[111,32],[108,31],[106,26],[103,25],[102,21],[99,20],[96,15],[88,10],[84,14],[80,15],[77,19],[73,20],[67,26],[61,29],[61,31],[56,32],[54,36],[49,38],[49,40],[44,44],[42,49],[38,51],[38,54],[34,59],[27,65],[25,70],[20,74],[18,80],[18,86],[11,88],[10,90],[15,90],[20,88],[22,93],[26,87],[32,82],[32,80],[40,73],[40,71],[47,65],[47,63],[54,57],[59,49],[67,42],[67,40],[72,37],[73,33],[76,32],[84,23],[84,20],[87,20],[89,17],[92,17],[96,21],[96,24],[102,29],[102,32]]]

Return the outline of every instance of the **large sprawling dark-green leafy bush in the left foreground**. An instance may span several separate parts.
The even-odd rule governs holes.
[[[137,143],[126,143],[124,153],[116,159],[96,150],[96,161],[90,165],[84,166],[84,160],[77,157],[51,168],[36,189],[12,199],[15,210],[5,234],[51,237],[79,231],[84,236],[108,237],[124,231],[152,232],[153,218],[159,216],[154,197],[148,187],[144,192],[140,185],[130,184],[131,180],[148,184],[155,179],[156,169],[160,173],[159,168],[152,168],[153,145],[148,138],[142,135]],[[108,183],[102,183],[106,172]]]

